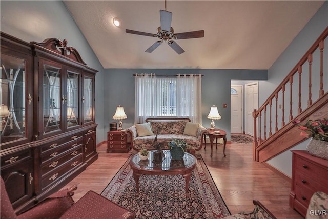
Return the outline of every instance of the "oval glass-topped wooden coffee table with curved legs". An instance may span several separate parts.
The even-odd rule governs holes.
[[[154,163],[154,151],[149,152],[147,160],[141,160],[138,154],[130,158],[129,164],[133,170],[133,177],[137,186],[136,195],[139,195],[139,177],[141,174],[147,175],[182,175],[186,180],[186,196],[189,197],[188,188],[191,172],[195,169],[197,158],[185,153],[182,160],[176,161],[171,157],[169,150],[163,150],[165,158],[161,163]]]

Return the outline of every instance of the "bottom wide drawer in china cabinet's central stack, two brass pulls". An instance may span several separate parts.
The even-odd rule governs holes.
[[[60,168],[57,168],[49,174],[42,177],[41,185],[42,190],[46,189],[48,186],[55,184],[61,178],[65,177],[68,173],[70,173],[74,168],[79,166],[83,162],[83,154],[79,154],[76,157],[71,158],[65,165]]]

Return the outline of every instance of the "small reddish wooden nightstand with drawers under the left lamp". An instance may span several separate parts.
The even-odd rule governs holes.
[[[106,152],[125,152],[131,149],[130,134],[122,131],[107,132],[107,150]]]

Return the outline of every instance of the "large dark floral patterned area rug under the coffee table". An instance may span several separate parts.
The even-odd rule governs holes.
[[[135,213],[136,218],[222,218],[231,215],[200,154],[186,197],[182,175],[141,175],[140,194],[129,159],[101,195]]]

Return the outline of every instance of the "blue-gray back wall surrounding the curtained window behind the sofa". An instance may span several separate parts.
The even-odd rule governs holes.
[[[123,121],[123,128],[129,128],[134,123],[134,76],[132,74],[202,74],[202,125],[210,127],[207,118],[213,105],[218,107],[222,117],[215,121],[215,127],[226,130],[230,140],[230,81],[235,80],[266,80],[267,70],[238,70],[238,69],[105,69],[105,121],[112,120],[116,106],[124,107],[128,118]],[[223,104],[228,104],[223,108]],[[109,123],[106,124],[109,130]],[[105,129],[106,129],[105,128]]]

